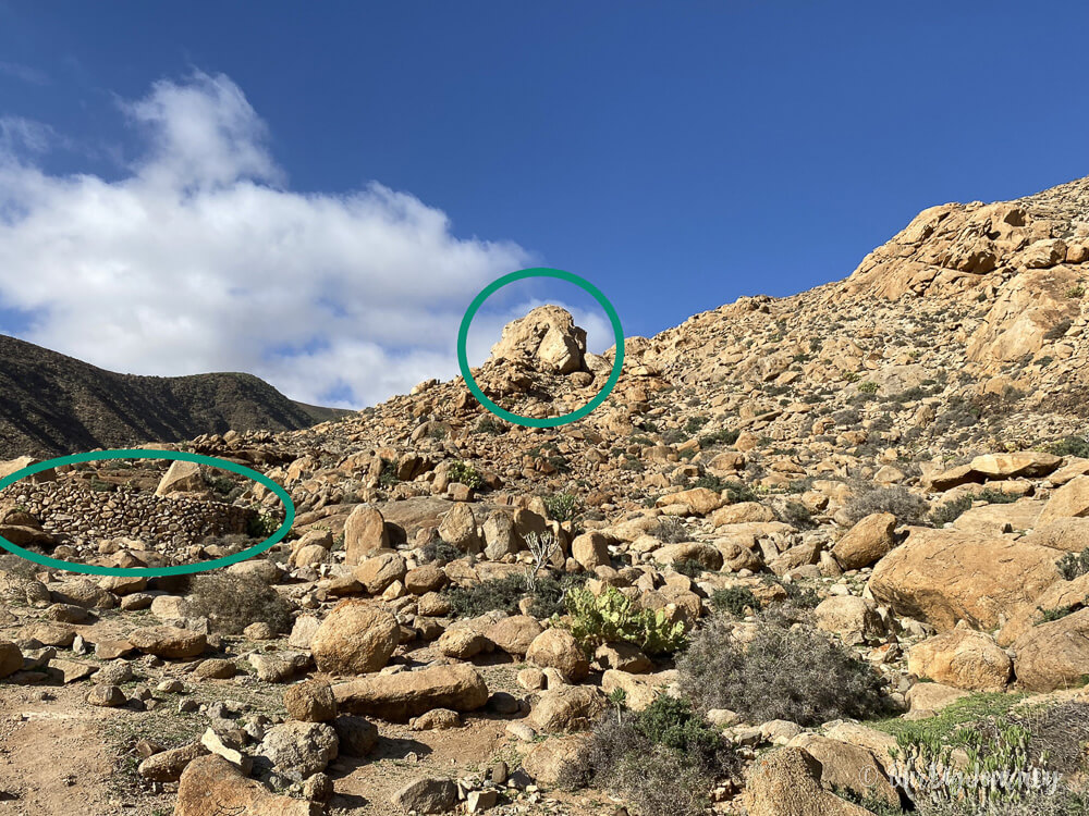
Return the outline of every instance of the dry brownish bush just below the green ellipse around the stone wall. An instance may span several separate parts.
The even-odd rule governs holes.
[[[255,578],[225,573],[197,576],[187,596],[194,617],[206,617],[211,628],[237,634],[250,623],[268,623],[274,632],[291,628],[291,604]]]

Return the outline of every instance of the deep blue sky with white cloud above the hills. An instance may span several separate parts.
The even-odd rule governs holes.
[[[149,298],[139,332],[107,310],[105,338],[81,343],[73,304],[0,277],[0,329],[108,367],[246,367],[302,398],[352,404],[430,371],[453,373],[458,305],[521,263],[591,280],[628,334],[653,334],[738,295],[841,279],[925,207],[1012,198],[1089,174],[1078,40],[1087,23],[1089,11],[1073,2],[0,0],[0,148],[20,172],[9,187],[22,190],[0,194],[0,259],[69,263],[72,274],[101,279],[103,293],[118,290],[124,269],[121,290],[137,314]],[[207,132],[187,131],[192,110],[207,113]],[[216,141],[221,133],[231,145]],[[76,173],[103,189],[73,190]],[[140,180],[157,193],[130,198]],[[232,185],[246,195],[224,201]],[[281,195],[250,201],[260,196],[247,185]],[[138,231],[123,245],[96,243],[94,208],[118,218],[130,205],[184,209],[195,188],[208,209],[189,232],[163,233],[159,244]],[[84,227],[61,230],[72,249],[58,258],[47,242],[73,199]],[[186,246],[203,240],[209,212],[231,221],[242,199],[255,221],[229,251],[209,249],[172,274],[208,264],[210,288],[230,281],[252,313],[232,304],[216,325],[237,325],[217,334],[196,311],[211,308],[201,300],[209,288],[193,284],[180,302],[192,297],[194,311],[164,321],[156,309],[166,289],[132,285],[133,275],[152,274],[143,268],[156,265],[156,252],[176,256],[176,232]],[[392,249],[345,245],[322,257],[314,247],[332,239],[326,227],[295,219],[311,207],[303,223],[317,223],[345,199],[355,205],[339,211],[344,231],[404,227],[405,208],[411,228]],[[266,205],[279,215],[267,219]],[[33,233],[28,214],[40,221]],[[265,280],[236,269],[247,235],[267,245],[307,230],[302,243],[314,257],[304,252],[305,263]],[[429,248],[413,255],[421,231]],[[84,242],[95,259],[86,268]],[[383,272],[387,250],[397,261]],[[345,281],[358,254],[369,267],[353,288]],[[289,310],[292,275],[327,267],[339,271],[299,297],[347,304],[345,324],[381,324],[386,309],[393,336],[327,335],[314,327],[329,318],[321,308]],[[405,290],[381,285],[383,274],[404,279],[419,267],[433,276]],[[352,298],[370,299],[368,286],[381,294],[366,313],[353,311]],[[413,287],[418,311],[397,300]],[[314,331],[273,347],[261,313]],[[161,343],[149,342],[163,323]],[[413,331],[399,333],[405,326]],[[414,332],[427,336],[417,343]],[[400,373],[338,378],[348,363]]]

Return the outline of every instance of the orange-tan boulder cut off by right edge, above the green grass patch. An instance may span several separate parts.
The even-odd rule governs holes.
[[[1089,609],[1029,628],[1014,643],[1017,682],[1030,691],[1081,685],[1089,675]]]

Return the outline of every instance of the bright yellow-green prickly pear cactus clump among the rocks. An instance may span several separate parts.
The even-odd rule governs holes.
[[[560,622],[587,650],[602,643],[634,643],[648,655],[672,654],[686,641],[684,623],[670,622],[661,609],[640,609],[615,586],[600,595],[576,589],[565,599]]]

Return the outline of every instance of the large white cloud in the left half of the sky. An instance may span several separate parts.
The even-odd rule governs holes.
[[[464,309],[533,260],[455,237],[443,212],[377,183],[291,191],[225,76],[159,82],[122,107],[147,148],[118,181],[48,174],[26,158],[39,132],[0,129],[0,308],[30,314],[17,334],[32,343],[365,405],[456,374]]]

